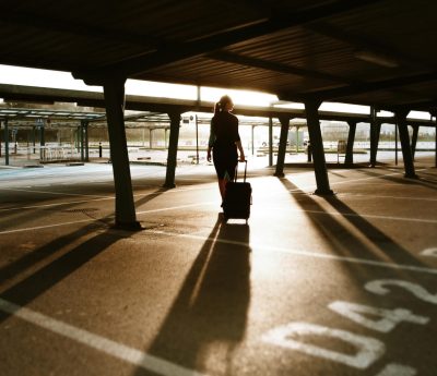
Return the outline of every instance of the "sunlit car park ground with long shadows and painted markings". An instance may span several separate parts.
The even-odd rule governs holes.
[[[251,168],[225,225],[211,166],[0,170],[1,375],[437,375],[437,170]]]

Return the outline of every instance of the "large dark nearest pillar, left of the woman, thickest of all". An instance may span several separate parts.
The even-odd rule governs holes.
[[[117,80],[117,77],[108,77],[104,81],[110,160],[113,162],[116,190],[115,225],[118,228],[140,230],[141,226],[137,221],[133,203],[132,181],[125,130],[125,81],[126,80],[122,78]]]

